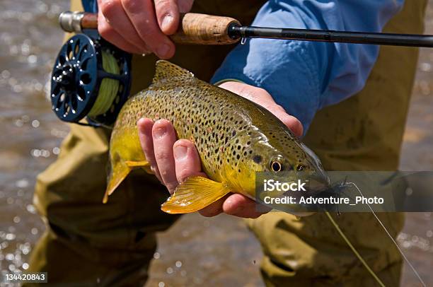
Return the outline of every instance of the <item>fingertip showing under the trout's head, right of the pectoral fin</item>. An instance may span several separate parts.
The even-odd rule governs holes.
[[[242,194],[231,194],[222,205],[224,213],[243,217],[243,218],[258,218],[271,209],[267,206],[258,206],[258,204]]]

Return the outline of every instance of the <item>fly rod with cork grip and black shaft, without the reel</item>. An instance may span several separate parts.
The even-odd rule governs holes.
[[[94,13],[64,12],[60,25],[67,32],[81,29],[97,29],[98,17]],[[345,32],[335,30],[311,30],[294,28],[265,28],[243,26],[236,19],[186,13],[180,30],[171,36],[180,44],[224,45],[241,38],[267,38],[351,44],[392,45],[407,47],[433,47],[433,35]]]

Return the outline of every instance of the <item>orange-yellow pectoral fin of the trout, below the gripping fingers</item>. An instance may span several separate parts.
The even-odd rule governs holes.
[[[188,177],[161,205],[161,210],[172,214],[199,211],[230,191],[229,187],[221,182],[214,182],[205,177]]]

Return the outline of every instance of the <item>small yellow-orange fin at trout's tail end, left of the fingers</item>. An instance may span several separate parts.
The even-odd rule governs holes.
[[[115,189],[125,180],[125,177],[133,170],[134,168],[146,168],[149,163],[146,160],[142,161],[123,161],[119,160],[112,165],[111,172],[108,177],[107,189],[105,189],[105,195],[103,199],[103,203],[107,203],[108,196],[110,196]]]

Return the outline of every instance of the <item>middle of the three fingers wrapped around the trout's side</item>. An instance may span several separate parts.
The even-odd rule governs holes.
[[[178,186],[173,156],[173,145],[176,141],[173,125],[166,119],[159,119],[152,127],[152,136],[159,174],[168,191],[173,193]]]

